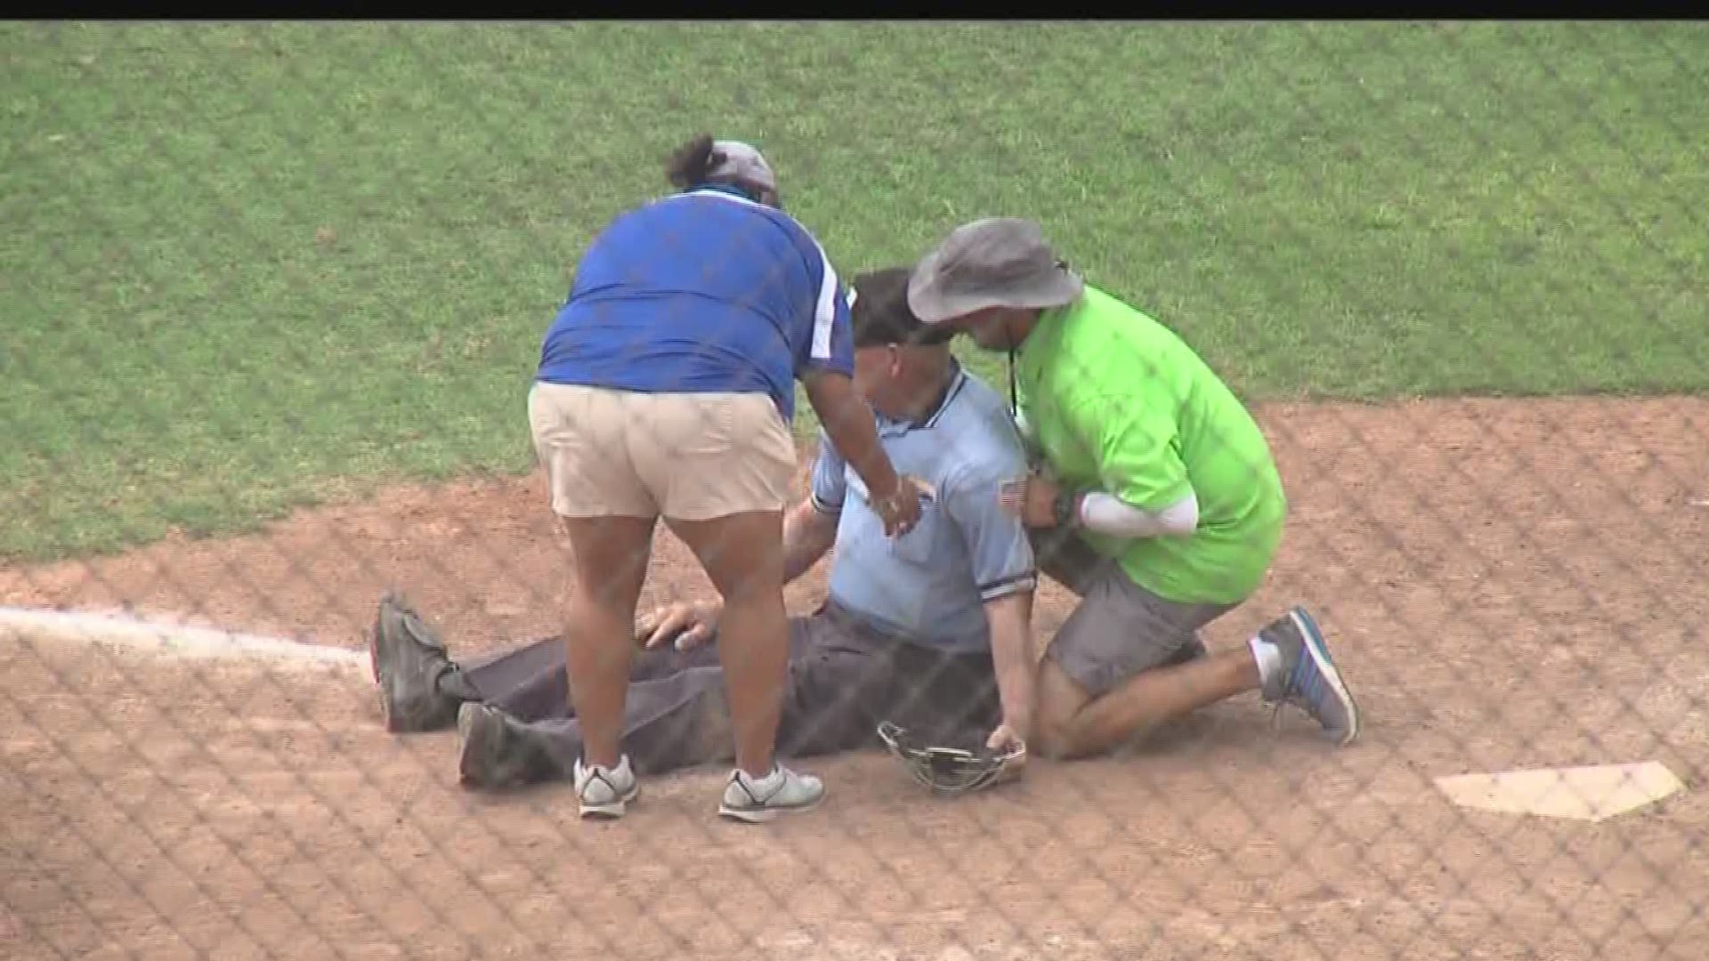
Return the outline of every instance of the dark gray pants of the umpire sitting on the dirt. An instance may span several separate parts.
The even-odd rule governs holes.
[[[523,722],[537,780],[567,780],[581,756],[566,650],[545,638],[460,665],[480,698]],[[716,638],[636,655],[622,749],[637,773],[735,758]],[[827,602],[790,619],[778,754],[807,758],[877,744],[889,720],[933,744],[974,747],[1001,720],[990,651],[943,653],[880,634]]]

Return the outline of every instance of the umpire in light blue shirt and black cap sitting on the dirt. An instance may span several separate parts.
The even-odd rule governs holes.
[[[887,537],[860,477],[820,434],[812,494],[784,515],[784,580],[836,545],[829,597],[790,622],[783,756],[875,744],[880,722],[928,744],[1003,751],[1032,718],[1032,549],[1000,491],[1025,475],[1003,398],[960,369],[907,310],[909,268],[854,280],[854,383],[897,472],[925,480],[918,527]],[[622,749],[637,773],[730,759],[718,602],[641,617]],[[456,716],[465,785],[564,780],[583,751],[564,645],[545,638],[453,662],[402,600],[379,605],[373,658],[391,730]],[[764,805],[755,805],[766,814]],[[620,814],[602,812],[602,814]]]

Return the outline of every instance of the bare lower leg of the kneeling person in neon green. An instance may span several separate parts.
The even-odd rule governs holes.
[[[1039,747],[1058,759],[1102,754],[1157,723],[1256,689],[1258,662],[1246,650],[1142,670],[1095,699],[1046,657],[1039,665]]]

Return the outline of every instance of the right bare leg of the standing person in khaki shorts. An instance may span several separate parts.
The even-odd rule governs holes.
[[[730,691],[737,766],[750,778],[772,769],[790,624],[783,609],[783,513],[752,511],[667,523],[694,551],[725,598],[718,657]]]

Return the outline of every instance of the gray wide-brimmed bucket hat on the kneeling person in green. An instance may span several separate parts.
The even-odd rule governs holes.
[[[1063,306],[1084,289],[1036,222],[986,217],[955,227],[921,258],[907,306],[926,323],[943,323],[986,308]]]

